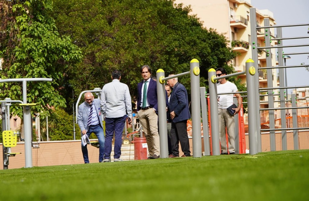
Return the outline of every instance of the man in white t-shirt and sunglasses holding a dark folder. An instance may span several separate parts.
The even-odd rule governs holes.
[[[226,75],[224,68],[218,68],[216,70],[217,77]],[[221,154],[235,154],[235,121],[234,115],[239,113],[240,107],[242,104],[242,98],[239,93],[236,93],[238,107],[233,108],[235,110],[234,115],[231,115],[227,108],[233,105],[233,92],[238,92],[238,89],[234,83],[227,81],[225,78],[218,79],[217,83],[217,92],[219,93],[228,93],[231,94],[222,94],[218,95],[218,112],[219,112],[219,133],[220,133],[220,143],[221,143]],[[228,148],[226,146],[226,132],[228,136]],[[228,150],[227,150],[228,149]],[[228,151],[228,152],[227,152]]]

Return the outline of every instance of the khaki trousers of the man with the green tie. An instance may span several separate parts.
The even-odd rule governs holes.
[[[158,115],[150,108],[138,110],[138,119],[142,124],[149,156],[160,156],[160,138],[158,132]]]

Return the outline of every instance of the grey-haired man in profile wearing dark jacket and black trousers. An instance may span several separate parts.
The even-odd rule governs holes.
[[[172,75],[169,75],[172,76]],[[184,155],[191,156],[189,138],[187,133],[187,120],[191,118],[189,112],[188,93],[184,85],[177,78],[167,80],[167,84],[173,88],[168,109],[171,113],[171,146],[170,158],[179,157],[179,142]]]

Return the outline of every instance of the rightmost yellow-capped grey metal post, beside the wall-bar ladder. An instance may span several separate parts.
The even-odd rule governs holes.
[[[255,118],[259,118],[255,112],[255,90],[254,90],[254,75],[255,75],[254,61],[248,59],[246,61],[246,80],[247,80],[247,96],[248,96],[248,126],[249,126],[249,153],[254,155],[258,153],[257,142],[257,122]]]

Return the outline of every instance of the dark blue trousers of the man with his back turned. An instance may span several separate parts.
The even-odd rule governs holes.
[[[112,139],[115,132],[114,159],[120,158],[122,145],[122,131],[125,126],[127,115],[117,118],[105,118],[106,143],[104,150],[104,159],[109,159],[112,152]]]

